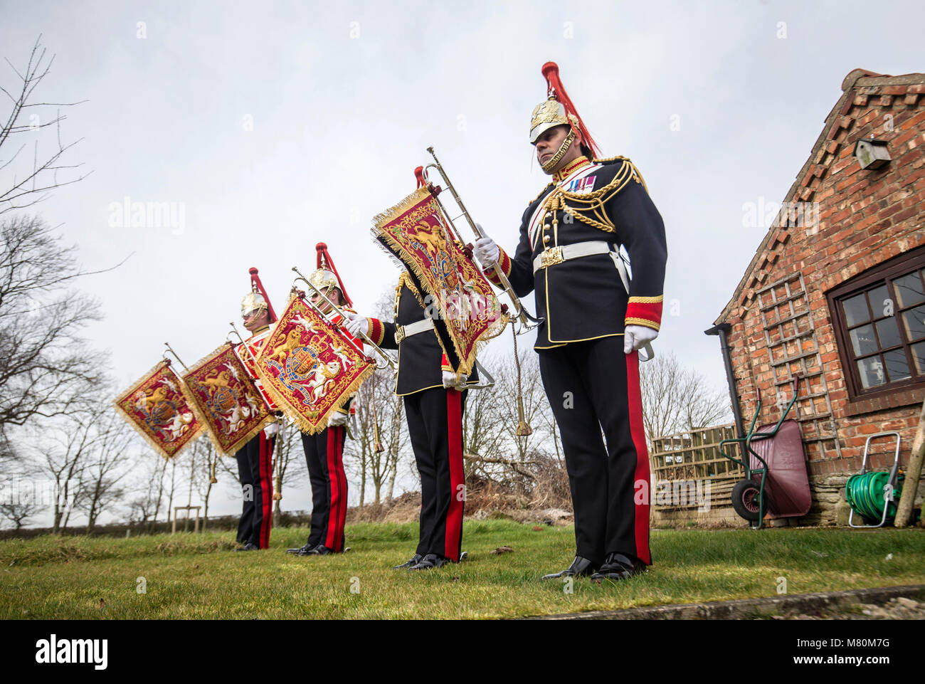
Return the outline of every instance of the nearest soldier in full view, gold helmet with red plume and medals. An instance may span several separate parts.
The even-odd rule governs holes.
[[[561,432],[577,547],[571,566],[544,578],[623,579],[652,562],[638,350],[660,327],[665,230],[639,171],[624,157],[592,156],[597,145],[558,67],[542,71],[549,98],[534,109],[530,142],[552,181],[526,207],[513,258],[488,237],[475,255],[486,270],[502,269],[518,296],[535,291],[544,318],[535,349]],[[494,271],[487,276],[499,285]]]

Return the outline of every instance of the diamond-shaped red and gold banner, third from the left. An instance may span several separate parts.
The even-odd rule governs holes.
[[[344,334],[293,296],[257,355],[265,391],[302,432],[325,429],[376,367]]]

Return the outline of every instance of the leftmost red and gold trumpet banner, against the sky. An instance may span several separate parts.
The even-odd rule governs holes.
[[[183,383],[162,361],[117,396],[117,412],[129,421],[154,451],[170,459],[203,432],[203,424],[182,392]]]

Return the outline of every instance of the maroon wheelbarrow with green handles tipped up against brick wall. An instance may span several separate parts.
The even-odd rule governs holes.
[[[812,504],[806,456],[800,424],[787,418],[796,404],[799,377],[793,380],[794,396],[776,423],[755,429],[761,413],[761,392],[755,391],[758,407],[745,437],[720,442],[720,454],[743,466],[746,479],[733,487],[733,508],[750,527],[760,529],[764,517],[805,516]],[[737,444],[747,461],[726,454],[725,444]]]

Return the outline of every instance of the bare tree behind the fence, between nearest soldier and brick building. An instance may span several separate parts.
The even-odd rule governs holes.
[[[729,396],[709,387],[693,368],[685,368],[669,352],[639,365],[643,424],[649,442],[682,430],[726,422]]]

